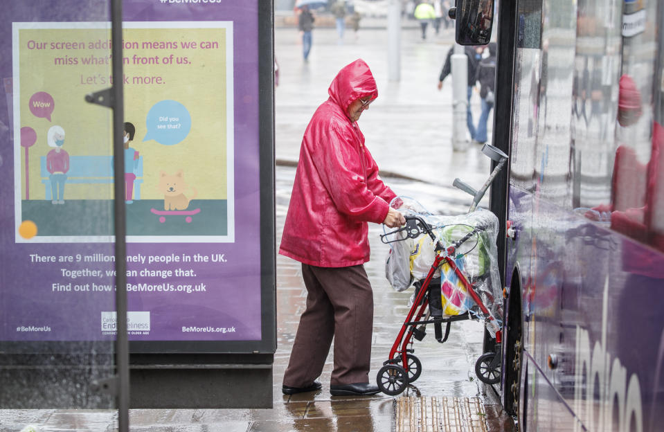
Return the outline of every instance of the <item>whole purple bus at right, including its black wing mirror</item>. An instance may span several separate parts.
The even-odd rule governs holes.
[[[485,44],[469,17],[493,10],[499,47],[505,411],[521,432],[662,431],[664,2],[456,6],[457,42]]]

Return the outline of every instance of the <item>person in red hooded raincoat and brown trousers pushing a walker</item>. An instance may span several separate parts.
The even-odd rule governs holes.
[[[300,317],[282,393],[318,390],[334,337],[332,395],[375,395],[369,384],[373,291],[368,224],[396,228],[404,216],[378,175],[357,120],[378,96],[364,60],[343,67],[309,121],[279,253],[302,263],[307,309]]]

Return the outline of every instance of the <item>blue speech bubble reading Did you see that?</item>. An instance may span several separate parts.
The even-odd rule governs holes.
[[[147,134],[143,141],[154,140],[163,145],[175,145],[189,134],[191,116],[177,100],[161,100],[148,111],[145,127]]]

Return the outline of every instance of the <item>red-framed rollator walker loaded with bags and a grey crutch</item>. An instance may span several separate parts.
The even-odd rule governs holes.
[[[426,277],[424,277],[424,279],[416,280],[413,284],[417,289],[414,294],[415,299],[413,300],[413,305],[409,309],[406,320],[404,321],[399,334],[397,334],[397,338],[390,350],[388,360],[384,361],[384,366],[378,372],[377,384],[380,390],[387,395],[399,395],[410,383],[420,377],[422,373],[422,363],[418,357],[415,357],[413,354],[413,352],[415,352],[412,348],[413,339],[422,341],[426,335],[426,326],[429,324],[433,324],[436,340],[439,343],[444,343],[449,336],[451,322],[467,319],[483,319],[485,321],[486,329],[495,337],[496,344],[493,351],[485,352],[478,358],[475,363],[475,372],[478,379],[486,384],[497,384],[501,379],[502,323],[499,318],[496,318],[495,313],[492,312],[490,308],[492,305],[496,306],[500,304],[498,307],[501,310],[502,289],[501,287],[499,287],[499,290],[497,291],[494,289],[493,295],[491,292],[487,291],[482,291],[482,294],[479,295],[477,291],[479,287],[478,284],[486,284],[486,282],[482,282],[485,279],[477,278],[477,280],[471,281],[467,271],[462,268],[463,255],[467,255],[469,251],[476,249],[478,242],[481,240],[480,236],[484,234],[487,228],[489,228],[489,224],[483,222],[483,220],[487,218],[474,217],[474,215],[480,213],[475,211],[477,205],[485,195],[485,192],[490,187],[496,175],[501,171],[508,160],[508,156],[505,153],[492,145],[485,144],[482,148],[482,152],[497,163],[482,188],[480,190],[474,190],[474,188],[460,179],[455,179],[453,183],[453,186],[456,188],[473,196],[468,216],[469,219],[472,219],[472,221],[476,223],[451,224],[452,226],[464,227],[465,231],[463,232],[467,231],[465,235],[458,235],[456,240],[450,240],[449,236],[445,237],[445,235],[441,235],[441,230],[445,229],[445,225],[436,226],[436,224],[427,222],[426,216],[417,214],[406,214],[406,226],[381,235],[381,241],[386,244],[395,244],[395,242],[403,242],[409,239],[411,242],[415,242],[420,239],[420,246],[424,244],[422,243],[422,236],[428,236],[431,239],[434,257]],[[497,227],[497,218],[492,215],[492,213],[485,212],[484,210],[482,213],[493,217],[496,221],[495,225]],[[469,245],[466,243],[473,238],[476,238],[477,242],[469,249]],[[495,247],[495,244],[493,244],[494,249]],[[459,253],[462,249],[466,250],[463,254]],[[476,251],[476,253],[478,252]],[[440,282],[432,283],[432,281],[438,281],[438,279],[435,278],[436,273],[440,273],[442,277],[442,269],[445,269],[447,278],[454,278],[459,289],[465,289],[465,291],[467,291],[467,297],[469,297],[467,298],[468,304],[474,303],[472,309],[468,309],[466,312],[460,314],[447,316],[446,314],[440,314],[438,310],[432,311],[432,309],[435,309],[431,305],[431,303],[433,303],[432,300],[436,301],[436,296],[441,298],[441,291],[442,293],[445,293],[444,284],[441,287]],[[497,275],[497,266],[495,269],[495,274]],[[495,283],[496,282],[494,281],[494,285]],[[498,285],[500,285],[499,280]],[[497,294],[498,292],[500,294]],[[470,299],[472,299],[472,302],[470,302]],[[445,300],[442,301],[445,302]],[[442,324],[444,323],[446,324],[446,327],[445,334],[443,335]]]

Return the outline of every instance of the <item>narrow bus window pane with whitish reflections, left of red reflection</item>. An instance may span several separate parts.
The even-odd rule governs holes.
[[[622,43],[619,3],[578,3],[571,118],[573,208],[593,208],[611,196]]]

